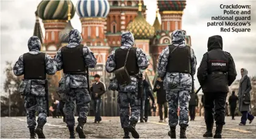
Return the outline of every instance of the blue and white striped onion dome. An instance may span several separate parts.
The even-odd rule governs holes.
[[[76,10],[80,18],[106,18],[109,3],[108,0],[82,0],[77,2]]]

